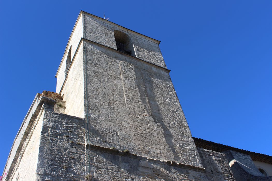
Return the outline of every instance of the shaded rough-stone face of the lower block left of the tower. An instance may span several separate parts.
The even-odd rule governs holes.
[[[83,119],[45,110],[37,180],[84,180]]]

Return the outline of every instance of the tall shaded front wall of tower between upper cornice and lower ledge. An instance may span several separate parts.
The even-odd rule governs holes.
[[[202,167],[168,71],[96,43],[85,46],[91,144]]]

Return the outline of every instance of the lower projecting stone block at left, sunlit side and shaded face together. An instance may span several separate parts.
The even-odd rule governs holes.
[[[62,100],[40,96],[34,102],[33,123],[17,158],[9,158],[14,166],[5,168],[7,180],[84,180],[84,119],[55,112],[63,112]]]

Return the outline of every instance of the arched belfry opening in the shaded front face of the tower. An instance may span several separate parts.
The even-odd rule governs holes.
[[[114,37],[117,50],[131,55],[131,49],[133,47],[130,37],[118,30],[114,31]]]

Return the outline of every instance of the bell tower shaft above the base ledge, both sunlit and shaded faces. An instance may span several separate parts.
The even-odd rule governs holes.
[[[202,167],[159,41],[82,12],[57,72],[85,141]]]

